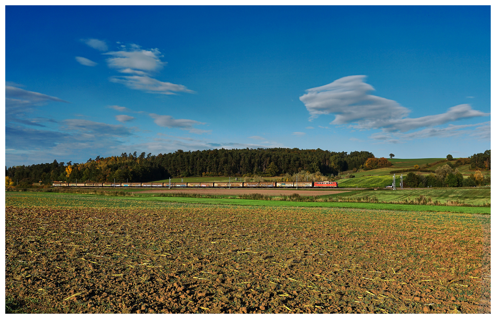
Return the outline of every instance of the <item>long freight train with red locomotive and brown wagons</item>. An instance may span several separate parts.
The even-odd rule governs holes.
[[[337,182],[177,182],[177,183],[161,183],[161,182],[142,182],[142,183],[131,183],[131,182],[53,182],[53,186],[57,187],[162,187],[162,188],[184,188],[184,187],[220,187],[220,188],[338,188]]]

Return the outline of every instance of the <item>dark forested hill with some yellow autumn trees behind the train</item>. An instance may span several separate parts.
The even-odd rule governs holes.
[[[302,169],[322,174],[337,174],[363,167],[370,152],[329,152],[300,149],[205,150],[136,156],[89,159],[86,163],[53,163],[6,168],[5,175],[13,181],[38,182],[74,181],[152,181],[169,177],[243,176],[247,174],[275,176],[294,174]]]

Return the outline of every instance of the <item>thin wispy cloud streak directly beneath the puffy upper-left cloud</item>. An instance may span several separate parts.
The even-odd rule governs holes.
[[[162,82],[150,77],[140,77],[140,76],[121,76],[121,77],[111,77],[111,82],[122,83],[129,88],[135,90],[143,90],[148,93],[160,93],[160,94],[176,94],[174,92],[188,92],[194,93],[186,88],[186,86],[181,84],[174,84],[169,82]]]

